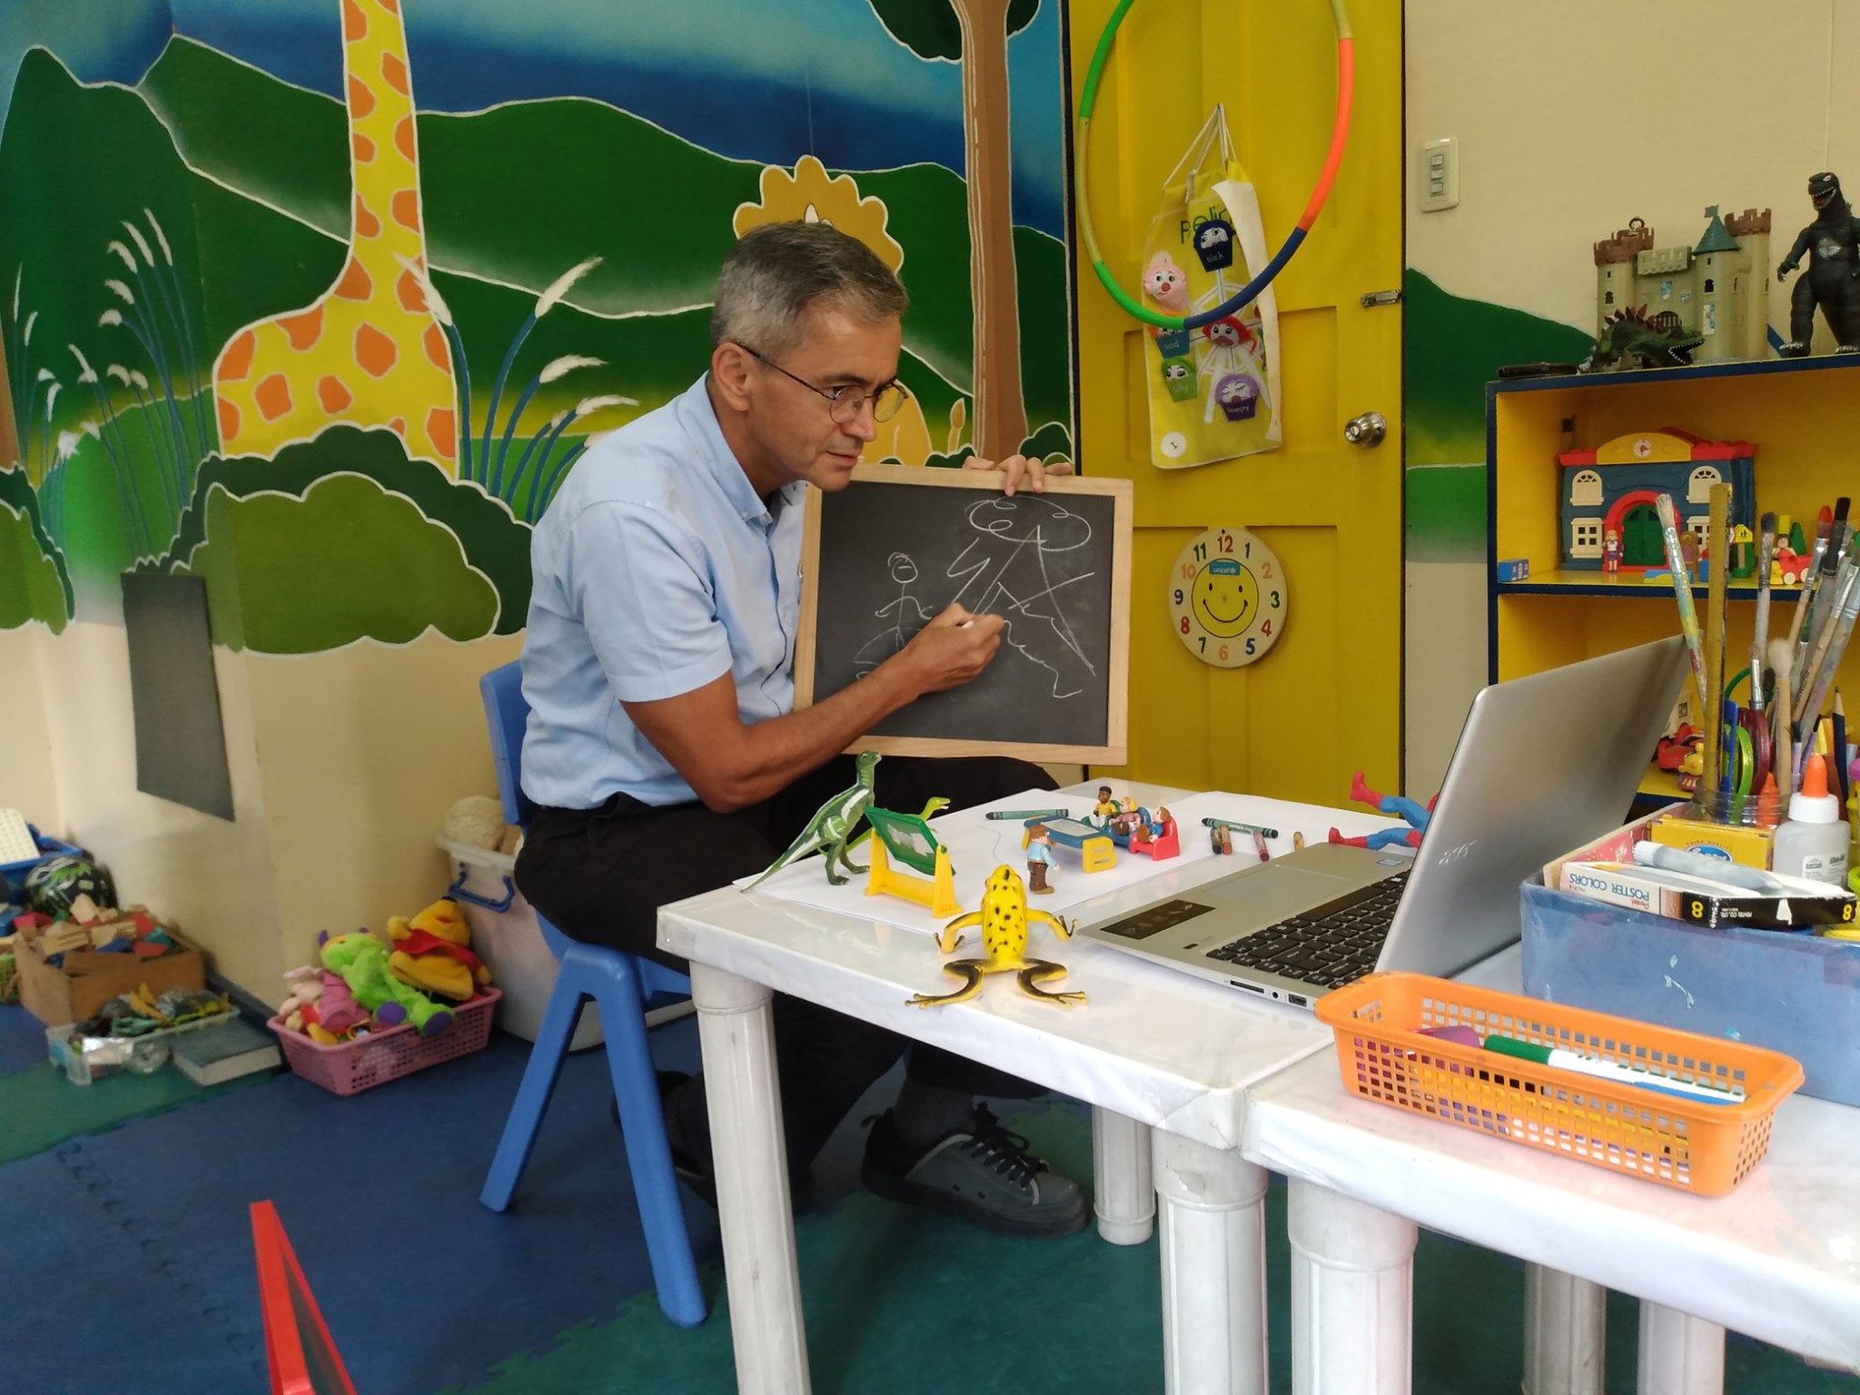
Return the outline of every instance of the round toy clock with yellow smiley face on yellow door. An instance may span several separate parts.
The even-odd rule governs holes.
[[[1189,653],[1216,668],[1263,658],[1285,631],[1285,569],[1246,528],[1194,538],[1168,582],[1168,612]]]

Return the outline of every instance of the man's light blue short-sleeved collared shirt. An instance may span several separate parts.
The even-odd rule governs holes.
[[[558,809],[694,800],[623,701],[729,673],[744,724],[794,709],[805,487],[757,497],[701,378],[588,448],[530,539],[525,794]]]

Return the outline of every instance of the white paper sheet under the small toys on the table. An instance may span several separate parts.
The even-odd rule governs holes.
[[[932,818],[930,828],[936,830],[937,839],[945,848],[949,848],[949,861],[956,872],[956,900],[962,910],[973,911],[980,906],[982,884],[1001,863],[1006,863],[1023,878],[1027,876],[1027,854],[1021,850],[1023,824],[1019,820],[986,818],[984,815],[990,809],[1066,809],[1073,818],[1079,818],[1092,813],[1094,804],[1096,800],[1081,794],[1027,790],[1023,794],[1012,794],[973,809],[963,809],[962,813],[945,813]],[[1345,826],[1343,831],[1347,833],[1367,831],[1363,824],[1369,828],[1388,826],[1386,818],[1376,818],[1373,815],[1365,818],[1360,813],[1341,809],[1317,809],[1313,805],[1242,798],[1218,790],[1207,794],[1189,794],[1181,800],[1170,802],[1166,807],[1170,811],[1170,818],[1176,820],[1181,856],[1155,861],[1140,852],[1133,854],[1127,848],[1118,848],[1116,867],[1109,867],[1103,872],[1086,872],[1079,865],[1077,848],[1066,848],[1053,843],[1053,863],[1047,869],[1047,885],[1053,887],[1053,893],[1045,897],[1029,893],[1027,904],[1058,915],[1110,891],[1146,882],[1153,876],[1162,876],[1203,857],[1213,857],[1215,852],[1209,846],[1207,830],[1202,828],[1202,818],[1235,818],[1242,822],[1265,822],[1265,826],[1276,828],[1278,839],[1267,844],[1274,857],[1293,850],[1291,835],[1295,831],[1304,833],[1306,843],[1321,843],[1332,824]],[[1263,809],[1267,807],[1283,809],[1289,815],[1302,815],[1302,822],[1272,822],[1276,815],[1263,818]],[[1155,809],[1151,809],[1151,813],[1155,813]],[[1324,822],[1315,824],[1311,822],[1313,818],[1324,818]],[[870,841],[861,844],[852,857],[857,863],[870,861]],[[1239,831],[1233,835],[1231,861],[1235,869],[1256,861],[1252,835]],[[844,867],[839,867],[837,870],[846,874]],[[908,867],[900,869],[893,865],[893,870],[902,870],[908,876],[919,876],[926,885],[930,882],[928,876],[923,876]],[[761,874],[757,872],[757,876]],[[746,876],[740,878],[737,885],[748,887],[751,882],[755,882],[755,876]],[[952,919],[932,915],[928,908],[917,906],[902,897],[865,895],[863,872],[852,876],[843,887],[830,885],[826,874],[820,870],[818,854],[789,863],[755,887],[755,895],[770,895],[802,906],[818,906],[844,915],[859,915],[882,924],[921,930],[926,936],[937,934],[947,919]]]

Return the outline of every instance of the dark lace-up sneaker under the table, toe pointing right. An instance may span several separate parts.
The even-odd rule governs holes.
[[[975,1107],[969,1129],[911,1148],[878,1116],[865,1144],[859,1177],[891,1202],[926,1205],[1003,1235],[1073,1235],[1090,1207],[1084,1189],[1027,1153],[1027,1140],[1001,1127],[988,1105]]]

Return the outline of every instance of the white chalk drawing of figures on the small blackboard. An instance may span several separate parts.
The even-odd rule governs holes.
[[[1075,618],[1068,614],[1066,590],[1079,588],[1097,573],[1083,571],[1055,580],[1051,558],[1090,543],[1090,521],[1056,498],[1038,495],[980,498],[967,508],[965,517],[975,536],[943,573],[958,582],[949,603],[962,603],[975,614],[1001,616],[1001,642],[1051,673],[1053,698],[1084,694],[1086,681],[1097,670],[1079,642]],[[911,591],[919,577],[917,560],[908,552],[893,552],[887,567],[898,593],[872,612],[891,625],[854,655],[854,675],[861,679],[910,644],[932,614]],[[1081,599],[1084,595],[1088,591]]]

